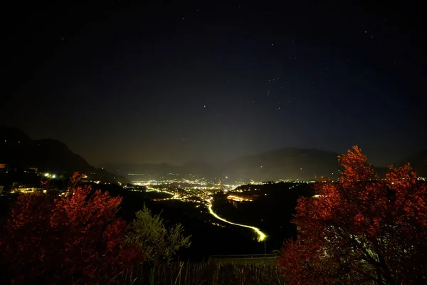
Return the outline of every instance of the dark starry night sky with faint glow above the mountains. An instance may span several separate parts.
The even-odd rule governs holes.
[[[4,123],[93,165],[426,148],[422,1],[139,2],[7,8]]]

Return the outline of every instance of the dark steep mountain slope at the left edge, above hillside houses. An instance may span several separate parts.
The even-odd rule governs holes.
[[[43,172],[75,171],[85,173],[94,180],[115,182],[115,176],[96,169],[80,155],[72,152],[58,140],[32,140],[18,128],[0,126],[0,163],[11,167],[38,167]]]

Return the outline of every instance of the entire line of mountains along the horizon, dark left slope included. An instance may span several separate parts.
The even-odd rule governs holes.
[[[0,125],[0,163],[34,166],[43,171],[84,172],[94,179],[117,182],[117,177],[127,180],[159,180],[164,178],[197,177],[209,180],[270,181],[315,180],[315,177],[339,176],[337,152],[317,148],[283,147],[278,150],[237,157],[225,163],[212,165],[204,161],[184,165],[167,163],[104,163],[95,168],[59,140],[32,140],[18,128]],[[395,165],[409,162],[419,176],[427,176],[427,150],[400,160]],[[386,167],[375,167],[384,176]],[[95,178],[96,177],[96,178]],[[102,178],[102,179],[100,179]]]

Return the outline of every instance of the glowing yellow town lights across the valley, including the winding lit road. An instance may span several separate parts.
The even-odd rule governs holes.
[[[55,172],[37,172],[37,169],[32,170],[39,177],[46,178],[48,180],[58,180],[60,176],[59,173]],[[90,175],[94,175],[95,173],[91,173],[89,175],[83,174],[82,179],[85,182],[93,183],[94,185],[111,185],[110,182],[102,182],[100,180],[91,180]],[[211,217],[214,217],[215,220],[211,222],[211,224],[216,225],[218,227],[225,227],[225,224],[231,224],[237,227],[243,227],[253,230],[254,234],[256,234],[258,242],[263,242],[268,238],[267,234],[262,232],[262,229],[258,227],[253,227],[251,224],[241,224],[238,222],[233,222],[232,218],[221,217],[214,211],[214,196],[218,193],[222,193],[227,200],[233,203],[239,202],[253,202],[259,198],[261,187],[263,185],[275,185],[280,183],[285,183],[290,185],[289,189],[297,187],[298,185],[312,185],[315,183],[315,180],[310,181],[299,181],[299,180],[279,180],[277,182],[268,181],[268,182],[257,182],[257,181],[249,181],[249,182],[238,182],[236,181],[234,184],[226,184],[223,180],[212,181],[206,180],[204,178],[196,178],[194,175],[189,175],[191,178],[179,178],[180,175],[168,173],[168,179],[164,180],[140,180],[138,177],[143,177],[144,174],[134,174],[129,173],[128,177],[130,178],[129,183],[125,182],[117,182],[117,185],[123,187],[124,190],[130,192],[158,192],[168,197],[162,198],[154,198],[153,202],[165,202],[176,200],[179,202],[188,202],[190,204],[194,204],[194,207],[200,209],[206,209]],[[317,180],[322,180],[323,177],[318,177]],[[228,180],[228,177],[226,177]],[[418,177],[418,180],[426,181],[426,177]],[[242,185],[251,185],[251,188],[243,188],[239,189]],[[46,190],[43,190],[41,187],[35,187],[34,185],[19,185],[16,184],[14,187],[11,187],[10,193],[34,193],[43,191],[46,193]],[[65,195],[65,190],[58,190],[58,195]],[[267,193],[263,193],[262,195],[267,196]],[[319,195],[313,195],[313,197],[320,197]],[[201,211],[203,212],[203,210]]]

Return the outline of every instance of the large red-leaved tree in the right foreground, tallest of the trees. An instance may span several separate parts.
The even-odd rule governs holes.
[[[298,200],[296,241],[278,265],[289,284],[427,284],[427,187],[409,165],[379,179],[357,146],[337,182]]]

